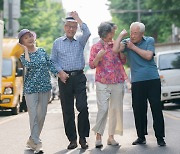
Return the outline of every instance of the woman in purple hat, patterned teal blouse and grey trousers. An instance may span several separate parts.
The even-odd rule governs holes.
[[[49,71],[58,75],[52,61],[43,48],[36,47],[36,35],[28,29],[19,34],[19,45],[24,49],[20,59],[26,68],[24,94],[28,108],[30,137],[27,147],[34,153],[43,153],[40,134],[44,125],[50,98],[51,82]]]

